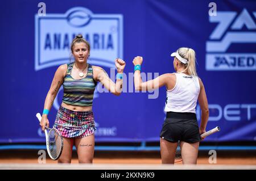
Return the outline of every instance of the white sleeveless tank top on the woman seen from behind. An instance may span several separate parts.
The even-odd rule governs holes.
[[[198,77],[184,73],[175,73],[175,75],[176,85],[174,89],[167,90],[164,111],[196,113],[196,103],[200,92]]]

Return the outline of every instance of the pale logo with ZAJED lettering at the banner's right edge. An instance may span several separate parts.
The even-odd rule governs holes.
[[[256,17],[256,12],[253,12]],[[237,17],[237,18],[236,18]],[[236,18],[236,19],[235,19]],[[256,54],[228,52],[233,43],[256,46],[256,24],[246,9],[237,16],[234,11],[218,11],[209,16],[209,22],[218,23],[206,43],[206,70],[256,70]],[[249,31],[241,31],[243,27]],[[228,31],[228,29],[232,31]],[[254,30],[254,31],[253,31]]]

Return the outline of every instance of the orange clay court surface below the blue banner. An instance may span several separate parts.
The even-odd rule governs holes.
[[[225,168],[225,166],[235,166],[234,168],[237,169],[256,169],[256,154],[254,150],[217,151],[216,164],[209,163],[209,156],[210,155],[208,155],[208,151],[200,151],[199,157],[197,159],[197,167],[199,166],[200,168],[201,165],[204,166],[203,169],[221,169]],[[40,168],[41,165],[45,165],[39,164],[38,157],[38,150],[1,150],[0,164],[2,169],[6,169],[6,164],[11,164],[13,166],[20,163],[29,163],[29,165],[36,164],[33,167],[34,169],[36,169],[36,166]],[[73,151],[72,165],[77,167],[77,163],[79,163],[77,159],[77,154],[76,151]],[[58,167],[57,161],[53,161],[47,155],[46,165],[48,164],[56,165]],[[154,166],[154,168],[159,167],[160,169],[163,169],[159,151],[95,151],[93,165],[96,169],[111,169],[112,167],[109,165],[118,165],[118,167],[114,167],[114,169],[129,169],[129,165],[133,165],[131,169],[134,169],[134,165],[137,166],[138,168],[143,168],[143,166],[147,165]],[[104,168],[102,168],[102,165],[104,165]],[[181,166],[182,163],[175,163],[175,165]],[[205,165],[208,166],[205,167]],[[24,168],[22,166],[24,166]],[[25,166],[27,167],[27,164],[18,165],[18,167],[8,167],[7,169],[26,169]],[[177,168],[182,169],[183,167]],[[27,169],[31,168],[28,167]],[[69,166],[66,169],[72,169],[72,167]]]

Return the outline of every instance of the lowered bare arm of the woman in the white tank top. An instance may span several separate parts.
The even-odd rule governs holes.
[[[204,84],[199,78],[199,84],[200,84],[200,93],[198,97],[199,105],[201,108],[201,124],[200,124],[200,134],[205,133],[205,129],[207,127],[207,122],[209,118],[209,108],[208,108],[208,100],[207,95],[205,93]]]

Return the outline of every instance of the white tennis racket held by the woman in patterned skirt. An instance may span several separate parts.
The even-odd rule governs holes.
[[[39,122],[42,119],[40,113],[36,114]],[[44,129],[46,134],[46,148],[48,155],[51,159],[56,160],[60,158],[63,149],[63,137],[60,135],[60,132],[56,128],[47,128]]]

